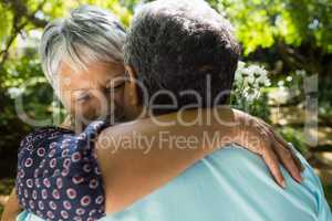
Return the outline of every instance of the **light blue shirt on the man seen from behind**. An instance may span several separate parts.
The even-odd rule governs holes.
[[[303,182],[297,183],[282,168],[283,190],[260,157],[224,148],[101,221],[332,221],[320,179],[299,157],[305,167]],[[23,212],[18,221],[41,219]]]

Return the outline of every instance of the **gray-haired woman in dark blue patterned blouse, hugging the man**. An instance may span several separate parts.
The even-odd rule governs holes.
[[[127,77],[124,77],[124,38],[125,32],[117,20],[108,12],[93,7],[79,8],[70,18],[54,21],[46,27],[41,44],[44,72],[73,116],[71,122],[75,127],[82,125],[84,131],[75,135],[69,128],[43,128],[22,141],[17,191],[23,209],[48,220],[96,220],[105,212],[123,209],[165,185],[215,149],[230,143],[239,144],[262,156],[281,186],[284,187],[284,181],[278,167],[279,160],[294,179],[301,181],[298,158],[292,155],[288,145],[261,120],[229,108],[181,113],[183,118],[190,122],[215,112],[224,122],[232,123],[234,126],[230,127],[212,118],[210,124],[201,125],[201,130],[209,135],[218,130],[227,138],[216,144],[205,146],[201,130],[177,122],[177,114],[167,114],[155,119],[141,119],[133,125],[110,127],[98,138],[98,146],[104,148],[94,148],[94,138],[107,124],[90,124],[92,120],[107,117],[112,120],[106,122],[114,123],[129,120],[137,115],[139,99],[135,95],[136,87],[126,84]],[[224,70],[226,75],[230,74],[226,76],[229,82],[222,83],[221,90],[229,90],[231,86],[236,62],[237,55],[234,54],[231,67]],[[133,72],[129,73],[129,78],[133,78]],[[173,120],[175,124],[159,127],[154,124],[156,119],[159,123]],[[248,120],[251,124],[247,124]],[[158,145],[167,147],[172,143],[168,140],[160,144],[159,140],[148,155],[142,155],[144,149],[139,148],[128,154],[110,155],[112,145],[103,140],[127,135],[128,128],[142,131],[147,137],[163,130],[172,131],[176,136],[197,136],[197,148],[190,151],[181,148],[159,148]],[[253,136],[258,143],[248,143],[241,135]],[[173,160],[172,164],[169,159]],[[103,175],[98,171],[100,167]],[[131,186],[132,188],[127,188]],[[17,199],[13,194],[6,215],[14,214],[10,210],[18,208],[15,206]]]

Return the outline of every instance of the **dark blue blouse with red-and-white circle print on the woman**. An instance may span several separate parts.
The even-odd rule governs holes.
[[[28,135],[18,155],[20,204],[45,220],[97,220],[104,215],[103,180],[94,154],[94,122],[82,134],[46,127]]]

